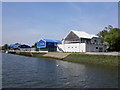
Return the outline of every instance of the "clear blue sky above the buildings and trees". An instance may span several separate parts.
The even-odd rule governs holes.
[[[61,40],[71,30],[97,34],[118,27],[117,2],[3,2],[2,44]]]

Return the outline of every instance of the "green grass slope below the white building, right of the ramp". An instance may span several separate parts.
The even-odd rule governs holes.
[[[65,57],[63,60],[69,62],[75,62],[75,63],[118,66],[118,58],[120,58],[120,56],[70,54],[67,57]]]

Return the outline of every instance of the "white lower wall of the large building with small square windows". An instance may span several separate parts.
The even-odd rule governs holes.
[[[58,44],[57,48],[59,52],[104,52],[105,50],[106,46],[103,44],[85,43]]]

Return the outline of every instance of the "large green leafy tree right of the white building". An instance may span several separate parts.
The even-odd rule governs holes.
[[[98,33],[103,43],[106,43],[108,51],[120,51],[120,29],[113,28],[111,25]]]

